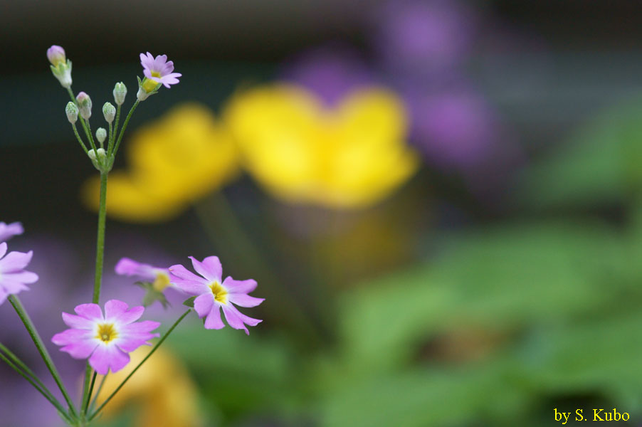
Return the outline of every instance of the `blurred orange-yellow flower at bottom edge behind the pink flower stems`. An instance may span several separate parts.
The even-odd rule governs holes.
[[[98,395],[97,405],[147,356],[151,347],[140,347],[130,354],[127,368],[107,374]],[[102,376],[96,378],[100,384]],[[98,386],[97,386],[98,387]],[[105,405],[103,418],[117,416],[126,408],[135,407],[136,427],[194,427],[201,424],[196,407],[198,394],[186,369],[172,354],[158,349],[152,354],[127,384]]]

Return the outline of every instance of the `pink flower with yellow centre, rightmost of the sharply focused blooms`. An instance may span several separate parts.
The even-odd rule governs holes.
[[[205,329],[221,329],[221,310],[228,324],[234,329],[245,330],[250,334],[246,325],[256,326],[261,320],[253,319],[239,312],[233,304],[241,307],[256,307],[264,301],[263,298],[248,295],[256,289],[256,280],[234,280],[223,277],[223,268],[219,257],[209,256],[201,263],[193,256],[191,265],[202,278],[191,273],[182,265],[172,265],[169,268],[172,283],[189,295],[198,295],[194,300],[194,310],[199,317],[205,317]],[[222,283],[221,283],[222,282]]]

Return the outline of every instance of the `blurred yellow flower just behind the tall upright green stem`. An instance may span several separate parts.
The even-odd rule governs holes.
[[[192,201],[221,188],[238,173],[238,150],[206,107],[174,108],[137,130],[127,150],[127,171],[110,173],[107,215],[125,221],[164,221]],[[85,204],[98,209],[98,177],[85,182]]]

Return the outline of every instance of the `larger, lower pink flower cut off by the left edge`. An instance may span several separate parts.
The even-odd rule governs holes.
[[[36,273],[24,270],[31,261],[33,251],[10,252],[9,255],[4,256],[6,247],[6,243],[0,243],[0,305],[7,296],[29,290],[26,284],[38,280]]]

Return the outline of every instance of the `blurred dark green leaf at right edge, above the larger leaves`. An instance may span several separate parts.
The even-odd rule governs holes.
[[[526,169],[515,194],[524,206],[593,206],[642,189],[642,101],[597,117],[551,157]]]

